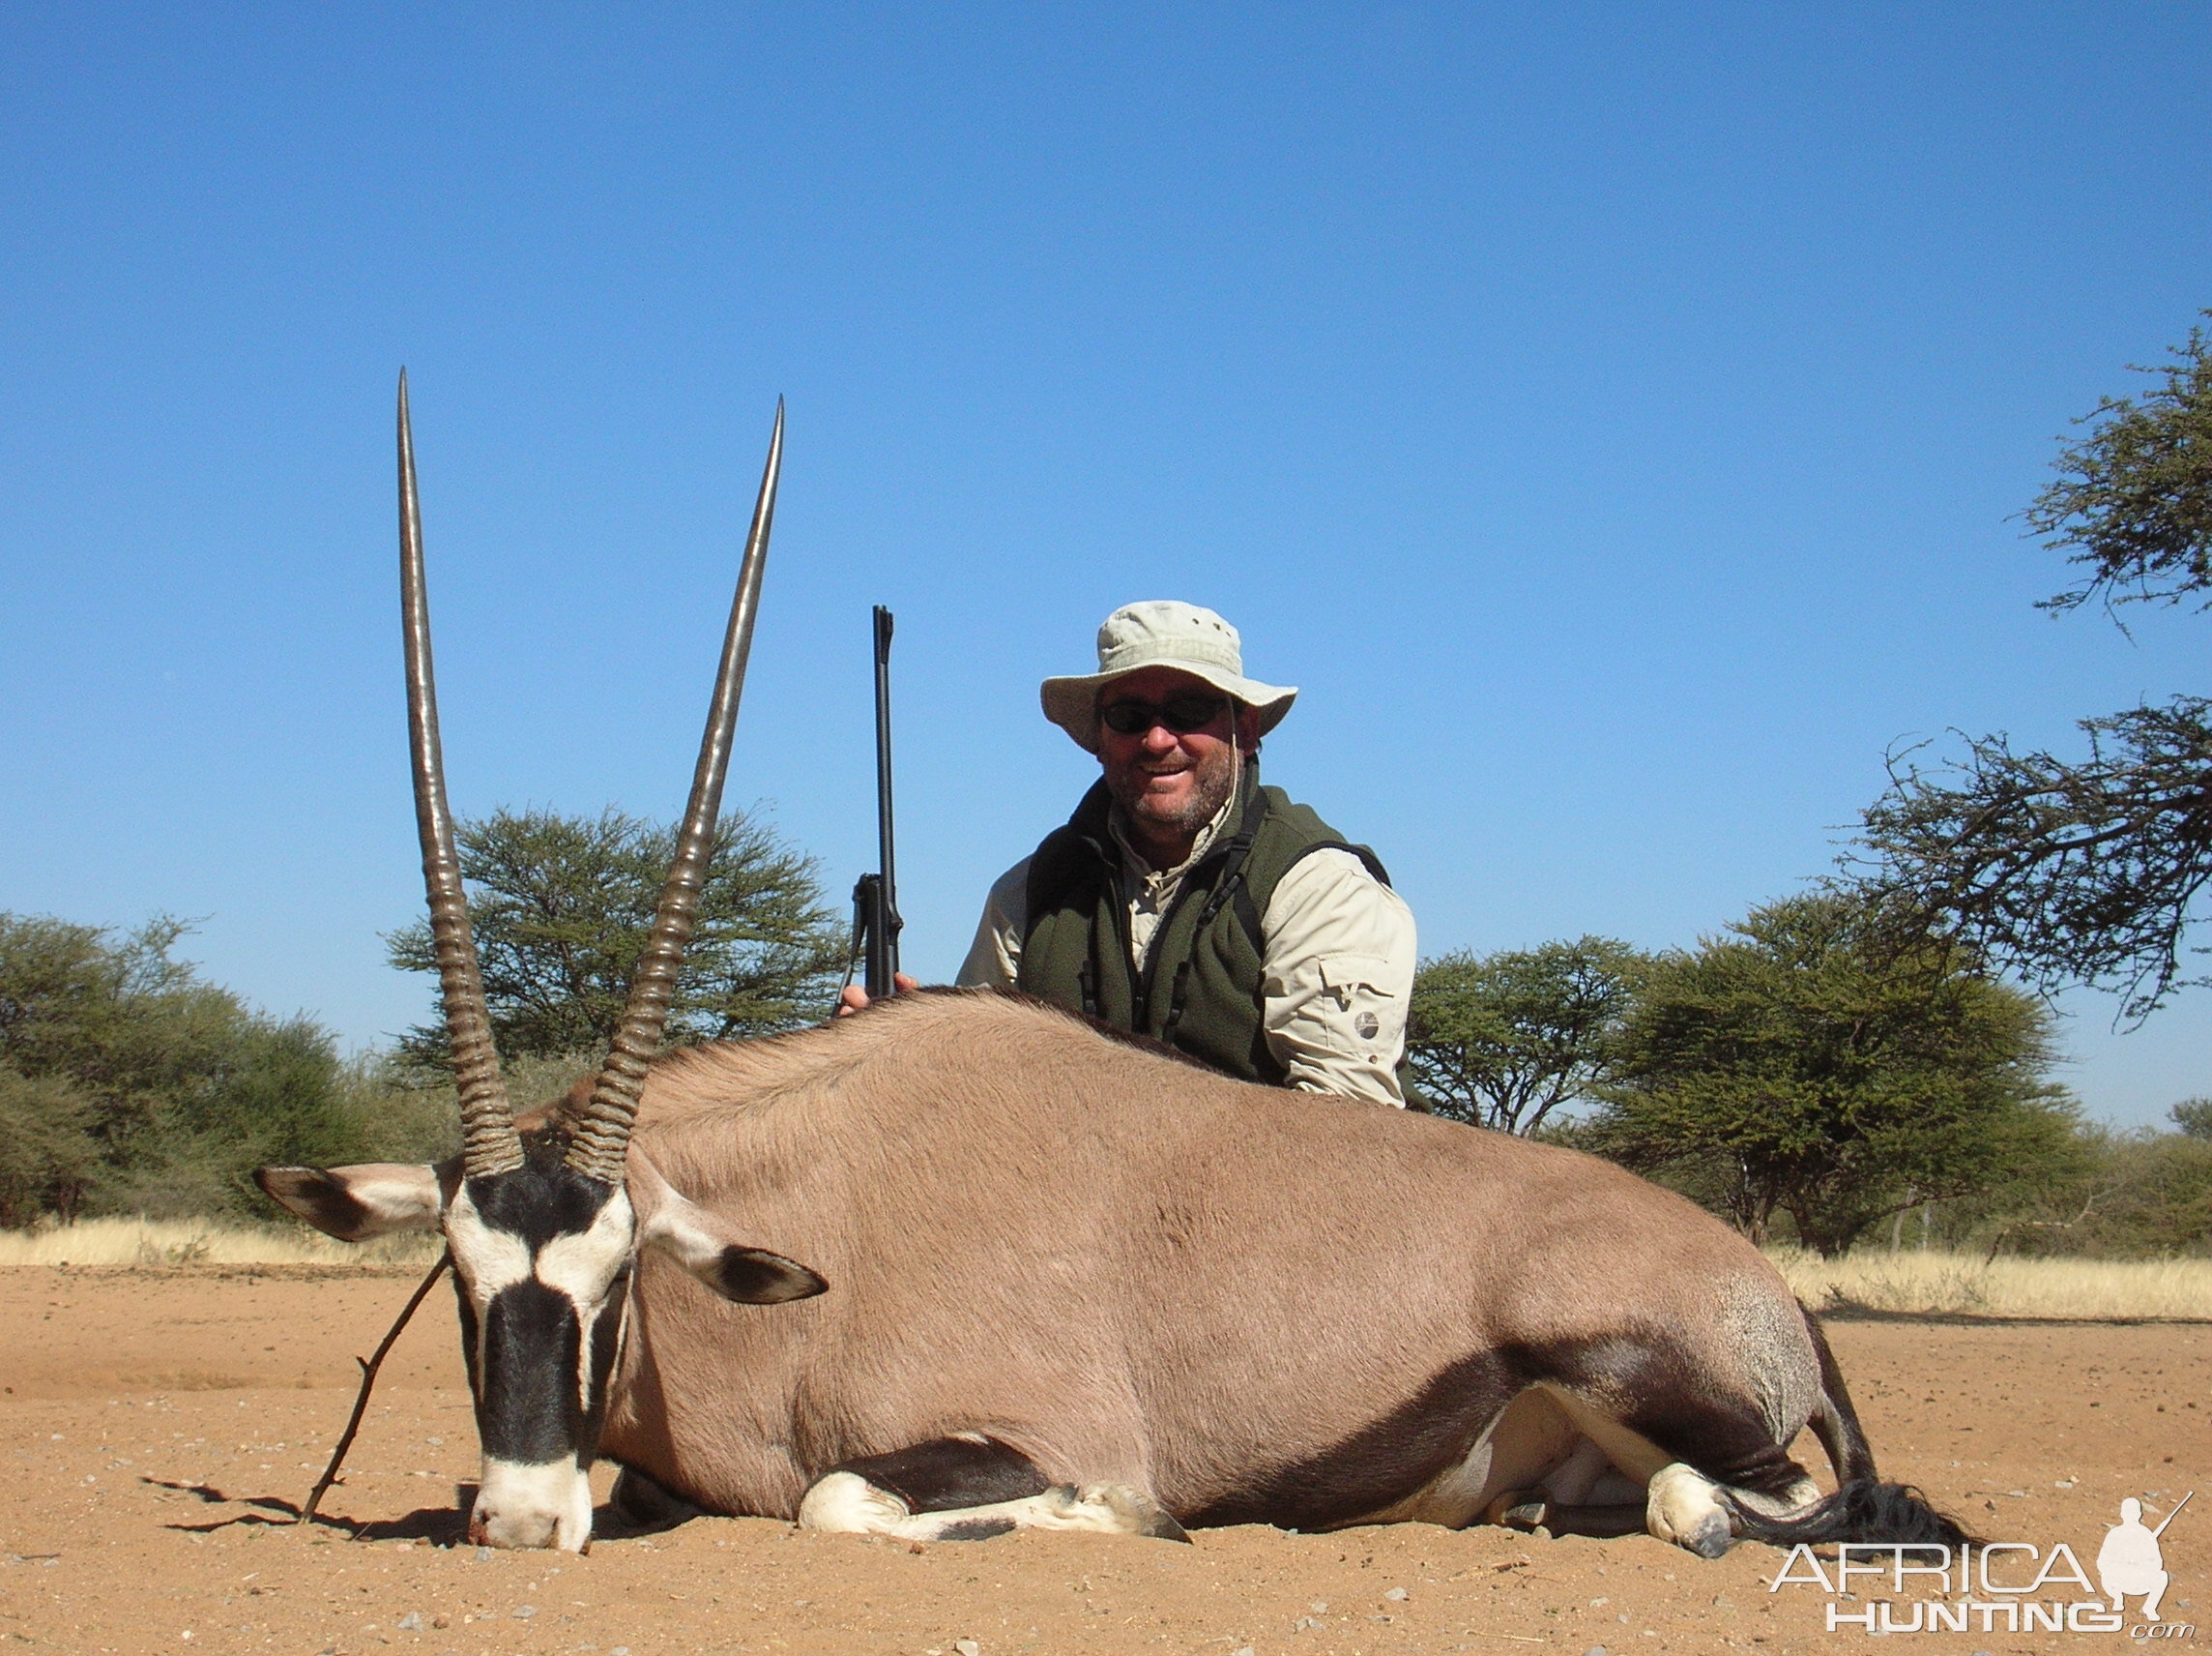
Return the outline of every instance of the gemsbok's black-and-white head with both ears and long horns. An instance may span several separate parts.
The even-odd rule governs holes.
[[[825,1288],[803,1264],[745,1246],[723,1220],[684,1200],[644,1156],[628,1151],[630,1120],[666,1027],[721,810],[774,520],[783,407],[776,407],[721,673],[653,941],[573,1136],[546,1131],[529,1140],[507,1105],[453,855],[405,374],[398,445],[416,819],[465,1149],[438,1167],[263,1167],[254,1178],[292,1213],[349,1242],[396,1231],[445,1233],[460,1284],[462,1350],[484,1455],[469,1536],[493,1548],[580,1552],[591,1541],[591,1463],[637,1249],[668,1251],[714,1293],[745,1304],[781,1304]]]

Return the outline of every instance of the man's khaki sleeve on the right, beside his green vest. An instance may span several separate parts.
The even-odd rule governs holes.
[[[1413,910],[1347,850],[1301,857],[1261,917],[1267,1049],[1292,1087],[1405,1107]]]

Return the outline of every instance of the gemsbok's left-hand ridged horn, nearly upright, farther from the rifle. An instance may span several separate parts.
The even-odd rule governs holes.
[[[438,746],[438,675],[429,660],[429,589],[422,580],[422,505],[414,480],[414,427],[407,421],[407,370],[400,370],[400,620],[407,633],[407,742],[414,753],[416,830],[422,837],[422,886],[429,932],[445,992],[445,1038],[460,1085],[460,1145],[469,1178],[522,1167],[515,1111],[507,1105],[500,1052],[491,1041],[484,979],[476,967],[469,901],[453,852],[453,813],[445,801],[445,753]]]

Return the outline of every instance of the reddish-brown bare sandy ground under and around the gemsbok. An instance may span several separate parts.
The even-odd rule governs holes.
[[[911,1550],[699,1519],[582,1559],[453,1545],[476,1446],[438,1288],[394,1350],[343,1528],[290,1528],[409,1277],[358,1271],[0,1271],[0,1641],[64,1652],[774,1652],[790,1656],[1398,1656],[1856,1649],[1858,1598],[1770,1581],[1783,1554],[1701,1563],[1644,1536],[1427,1525],[1197,1545],[1013,1534]],[[2157,1629],[1896,1634],[1927,1652],[2090,1652],[2212,1638],[2212,1326],[1843,1322],[1834,1342],[1889,1477],[1991,1539],[2064,1541],[2095,1572],[2119,1501],[2163,1514]],[[1809,1443],[1801,1446],[1807,1455]],[[1816,1452],[1812,1452],[1816,1459]],[[604,1481],[602,1481],[604,1488]],[[347,1539],[354,1530],[361,1539]],[[2015,1561],[1995,1572],[2020,1585]],[[1832,1565],[1829,1565],[1832,1567]],[[2031,1565],[2033,1570],[2033,1565]],[[2048,1585],[2037,1601],[2081,1601]],[[1909,1605],[1913,1605],[1909,1610]],[[2205,1634],[2194,1632],[2197,1605]],[[2190,1632],[2181,1632],[2188,1627]]]

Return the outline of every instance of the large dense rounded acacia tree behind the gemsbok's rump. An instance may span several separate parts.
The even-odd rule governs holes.
[[[1863,892],[1790,897],[1650,963],[1582,1142],[1681,1176],[1752,1240],[1785,1211],[1807,1246],[1840,1253],[2064,1140],[2048,1025],[2039,1001]]]

